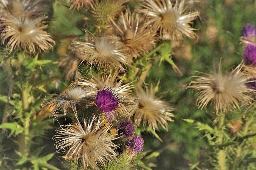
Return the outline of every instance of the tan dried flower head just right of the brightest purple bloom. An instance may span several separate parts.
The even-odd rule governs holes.
[[[158,129],[160,124],[167,130],[167,121],[173,121],[171,112],[174,110],[166,101],[155,96],[155,92],[151,85],[150,89],[146,87],[146,91],[142,87],[137,87],[136,96],[138,97],[138,106],[131,112],[130,117],[134,115],[134,123],[140,124],[143,121],[143,126],[146,124],[154,130]]]

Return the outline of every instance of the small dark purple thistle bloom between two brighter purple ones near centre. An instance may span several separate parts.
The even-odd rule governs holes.
[[[129,120],[123,120],[118,125],[118,133],[124,137],[131,137],[134,133],[133,123]]]

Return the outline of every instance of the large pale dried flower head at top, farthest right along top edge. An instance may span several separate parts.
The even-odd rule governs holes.
[[[148,24],[160,29],[161,36],[174,41],[180,41],[184,36],[193,39],[196,29],[191,24],[199,12],[188,12],[184,3],[184,0],[176,0],[175,4],[171,0],[143,0],[140,12],[149,18]]]

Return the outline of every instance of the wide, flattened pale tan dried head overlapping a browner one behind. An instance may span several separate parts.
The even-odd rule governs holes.
[[[106,37],[93,37],[93,40],[85,42],[73,41],[70,48],[81,63],[86,62],[97,69],[110,69],[113,66],[116,70],[124,70],[123,65],[130,66],[132,62],[116,42]]]

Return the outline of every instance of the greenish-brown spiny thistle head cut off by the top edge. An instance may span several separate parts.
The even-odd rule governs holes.
[[[108,24],[109,18],[115,18],[123,10],[123,4],[129,0],[95,0],[91,4],[91,12],[102,24]]]

